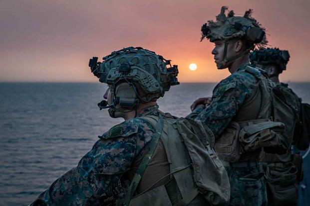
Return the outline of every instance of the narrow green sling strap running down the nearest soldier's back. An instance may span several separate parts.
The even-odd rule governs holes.
[[[146,118],[146,117],[143,117],[143,118]],[[149,118],[149,120],[152,119],[151,121],[154,121],[154,119],[152,117]],[[164,126],[164,121],[163,121],[163,116],[162,114],[160,113],[159,114],[159,120],[158,122],[156,123],[156,126],[155,126],[155,132],[152,136],[152,139],[149,143],[149,146],[148,146],[148,151],[146,152],[145,156],[143,157],[143,159],[141,160],[141,163],[136,171],[136,174],[134,175],[132,181],[131,181],[131,184],[129,186],[129,190],[124,198],[124,205],[125,206],[128,206],[129,203],[130,203],[130,200],[134,194],[134,192],[136,191],[137,189],[137,186],[144,174],[144,171],[147,167],[147,165],[149,164],[150,160],[151,160],[151,157],[153,156],[153,153],[155,151],[155,148],[158,144],[158,141],[159,141],[159,138],[161,136],[161,133],[163,131],[163,126]]]

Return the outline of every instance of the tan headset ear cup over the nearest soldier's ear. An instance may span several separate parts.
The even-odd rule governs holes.
[[[115,97],[119,98],[119,105],[125,108],[135,108],[139,99],[133,84],[121,83],[116,87]]]

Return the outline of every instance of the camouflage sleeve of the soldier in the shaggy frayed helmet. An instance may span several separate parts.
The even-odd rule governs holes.
[[[247,65],[222,80],[213,90],[212,103],[206,109],[195,109],[187,117],[203,121],[217,138],[227,127],[257,84],[257,79],[245,72]]]

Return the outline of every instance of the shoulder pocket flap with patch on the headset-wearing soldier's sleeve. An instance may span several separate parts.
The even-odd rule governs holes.
[[[119,136],[127,137],[137,133],[138,127],[139,127],[138,123],[132,123],[132,122],[120,123],[113,126],[109,131],[105,132],[104,134],[98,137],[100,139],[110,139]]]

